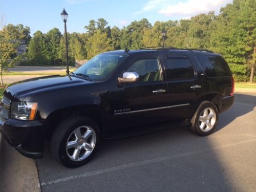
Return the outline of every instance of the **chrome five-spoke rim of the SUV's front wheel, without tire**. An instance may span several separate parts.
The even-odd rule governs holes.
[[[96,144],[96,133],[90,126],[79,126],[69,136],[66,152],[72,161],[86,159]]]

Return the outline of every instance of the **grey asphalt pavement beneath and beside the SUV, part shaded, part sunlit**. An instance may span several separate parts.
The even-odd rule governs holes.
[[[256,93],[236,94],[207,137],[186,127],[103,140],[88,164],[70,169],[49,150],[37,160],[42,191],[255,191]]]

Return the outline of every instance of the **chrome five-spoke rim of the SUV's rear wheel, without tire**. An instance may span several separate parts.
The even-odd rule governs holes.
[[[216,113],[212,108],[206,108],[199,116],[199,127],[203,132],[208,132],[216,123]]]

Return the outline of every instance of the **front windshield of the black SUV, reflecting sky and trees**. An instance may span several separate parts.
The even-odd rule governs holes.
[[[86,75],[92,80],[104,81],[108,79],[127,58],[127,55],[99,54],[74,71],[74,74]]]

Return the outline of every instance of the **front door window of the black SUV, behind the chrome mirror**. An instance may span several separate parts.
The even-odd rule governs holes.
[[[142,59],[133,63],[126,72],[137,72],[138,82],[152,82],[162,80],[158,59]]]

